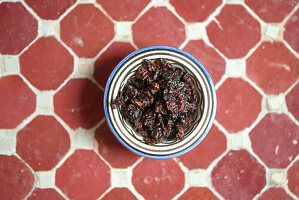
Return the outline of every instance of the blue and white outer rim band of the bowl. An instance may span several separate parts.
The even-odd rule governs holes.
[[[118,69],[123,66],[123,64],[128,61],[129,59],[131,59],[132,57],[134,57],[135,55],[138,55],[144,51],[149,51],[149,50],[168,50],[168,51],[174,51],[174,52],[177,52],[177,53],[180,53],[184,56],[186,56],[188,59],[190,59],[191,61],[193,61],[203,72],[203,74],[205,75],[205,77],[207,78],[208,80],[208,83],[210,85],[210,88],[211,88],[211,94],[212,94],[212,113],[211,113],[211,117],[209,119],[209,122],[208,122],[208,125],[205,129],[205,131],[202,133],[202,135],[199,137],[199,139],[194,142],[192,145],[186,147],[184,150],[182,151],[179,151],[177,153],[174,153],[174,154],[170,154],[170,155],[150,155],[150,154],[147,154],[147,153],[144,153],[144,152],[141,152],[141,151],[138,151],[134,148],[132,148],[131,146],[129,146],[128,144],[126,144],[122,138],[116,133],[116,131],[113,129],[113,126],[111,125],[112,122],[110,121],[110,117],[109,117],[109,114],[108,114],[108,105],[107,105],[107,98],[108,98],[108,92],[109,92],[109,88],[110,88],[110,85],[111,85],[111,81],[113,80],[113,77],[115,76],[116,72],[118,71]],[[174,158],[174,157],[177,157],[177,156],[180,156],[180,155],[183,155],[187,152],[189,152],[190,150],[192,150],[194,147],[196,147],[205,137],[206,135],[208,134],[209,130],[211,129],[212,127],[212,124],[214,122],[214,119],[215,119],[215,115],[216,115],[216,107],[217,107],[217,98],[216,98],[216,91],[215,91],[215,86],[213,84],[213,80],[211,78],[211,76],[209,75],[209,73],[207,72],[207,70],[204,68],[204,66],[196,59],[194,58],[192,55],[190,55],[189,53],[181,50],[181,49],[178,49],[178,48],[175,48],[175,47],[170,47],[170,46],[149,46],[149,47],[145,47],[145,48],[141,48],[139,50],[136,50],[132,53],[130,53],[128,56],[126,56],[124,59],[122,59],[118,65],[113,69],[113,71],[111,72],[108,80],[107,80],[107,83],[106,83],[106,86],[105,86],[105,92],[104,92],[104,111],[105,111],[105,118],[106,118],[106,121],[107,121],[107,124],[110,128],[110,130],[112,131],[113,135],[118,139],[118,141],[124,145],[127,149],[129,149],[130,151],[132,151],[133,153],[136,153],[140,156],[143,156],[143,157],[147,157],[147,158],[155,158],[155,159],[168,159],[168,158]]]

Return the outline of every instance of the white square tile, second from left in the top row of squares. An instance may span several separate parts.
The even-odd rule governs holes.
[[[131,27],[131,22],[117,22],[115,24],[115,40],[122,42],[130,41],[132,38]]]

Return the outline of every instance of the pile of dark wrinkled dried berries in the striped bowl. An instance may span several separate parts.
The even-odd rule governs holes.
[[[143,60],[112,103],[149,144],[183,139],[200,96],[192,76],[164,59]]]

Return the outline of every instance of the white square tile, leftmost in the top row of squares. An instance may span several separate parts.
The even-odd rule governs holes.
[[[40,33],[42,36],[56,36],[60,35],[60,27],[58,21],[40,20]]]

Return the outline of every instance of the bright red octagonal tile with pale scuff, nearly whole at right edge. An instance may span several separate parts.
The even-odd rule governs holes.
[[[247,76],[266,94],[285,92],[299,78],[299,60],[281,42],[263,42],[246,65]]]

